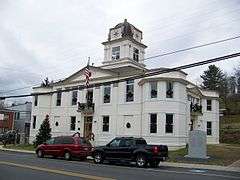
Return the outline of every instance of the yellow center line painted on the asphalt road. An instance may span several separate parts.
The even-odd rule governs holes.
[[[0,164],[8,165],[8,166],[20,167],[20,168],[28,168],[28,169],[44,171],[44,172],[49,172],[49,173],[55,173],[55,174],[61,174],[61,175],[65,175],[65,176],[80,177],[80,178],[91,179],[91,180],[102,180],[102,179],[115,180],[113,178],[107,178],[107,177],[101,177],[101,176],[93,176],[93,175],[87,175],[87,174],[80,174],[80,173],[74,173],[74,172],[70,172],[70,171],[57,170],[57,169],[48,169],[48,168],[43,168],[43,167],[38,167],[38,166],[29,166],[29,165],[24,165],[24,164],[16,164],[16,163],[8,162],[8,161],[0,161]]]

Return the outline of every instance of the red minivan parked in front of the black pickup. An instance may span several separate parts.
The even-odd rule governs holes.
[[[59,136],[49,139],[36,149],[38,157],[51,155],[53,157],[64,157],[70,160],[72,157],[78,157],[82,160],[91,155],[92,145],[83,137]]]

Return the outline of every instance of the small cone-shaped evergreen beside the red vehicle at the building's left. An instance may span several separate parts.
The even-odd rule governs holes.
[[[50,123],[49,123],[49,116],[46,115],[46,118],[44,119],[43,123],[41,124],[38,134],[36,135],[35,145],[37,146],[39,144],[42,144],[50,138],[51,138],[51,128],[50,128]]]

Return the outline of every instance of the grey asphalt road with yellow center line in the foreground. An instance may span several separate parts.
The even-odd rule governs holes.
[[[185,168],[136,168],[134,165],[93,164],[78,160],[37,158],[33,154],[0,151],[0,180],[227,180],[239,179],[240,172]]]

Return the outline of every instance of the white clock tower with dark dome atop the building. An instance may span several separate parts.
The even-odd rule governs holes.
[[[103,42],[104,61],[102,68],[116,71],[144,70],[145,48],[142,31],[127,22],[117,24],[109,30],[108,40]]]

